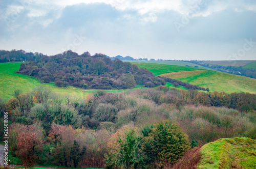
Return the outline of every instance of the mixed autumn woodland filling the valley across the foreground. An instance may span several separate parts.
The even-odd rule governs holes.
[[[198,144],[256,136],[255,94],[159,87],[81,99],[38,87],[13,95],[0,99],[0,127],[8,111],[10,151],[26,165],[172,166]]]

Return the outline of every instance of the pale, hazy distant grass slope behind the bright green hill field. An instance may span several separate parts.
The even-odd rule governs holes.
[[[151,63],[151,64],[163,64],[163,65],[176,65],[176,66],[190,66],[195,68],[195,66],[198,66],[199,69],[206,69],[206,70],[212,70],[211,68],[206,68],[201,65],[197,65],[194,63],[184,62],[184,61],[129,61],[132,63]]]

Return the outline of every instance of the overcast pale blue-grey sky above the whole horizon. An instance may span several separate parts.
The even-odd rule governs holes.
[[[255,60],[255,0],[0,0],[0,49]]]

